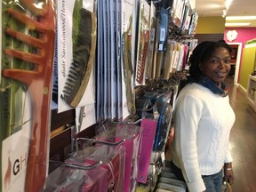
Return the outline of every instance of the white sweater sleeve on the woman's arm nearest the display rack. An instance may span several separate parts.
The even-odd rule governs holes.
[[[181,100],[180,100],[181,101]],[[202,115],[203,103],[186,95],[174,111],[177,155],[189,191],[204,191],[204,180],[199,170],[196,131]]]

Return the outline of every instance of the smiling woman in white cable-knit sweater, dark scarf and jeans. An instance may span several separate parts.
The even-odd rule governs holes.
[[[173,111],[172,170],[189,191],[221,191],[223,180],[234,181],[228,143],[236,117],[224,83],[231,52],[223,40],[206,41],[188,60],[188,84]]]

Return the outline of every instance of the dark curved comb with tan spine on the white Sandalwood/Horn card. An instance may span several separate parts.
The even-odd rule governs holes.
[[[76,108],[89,82],[96,50],[96,19],[92,12],[77,1],[73,10],[73,60],[61,98]]]

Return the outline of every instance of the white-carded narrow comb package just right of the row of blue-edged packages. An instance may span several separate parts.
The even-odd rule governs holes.
[[[122,74],[122,117],[135,113],[134,93],[134,39],[135,39],[135,1],[121,2],[121,74]]]

